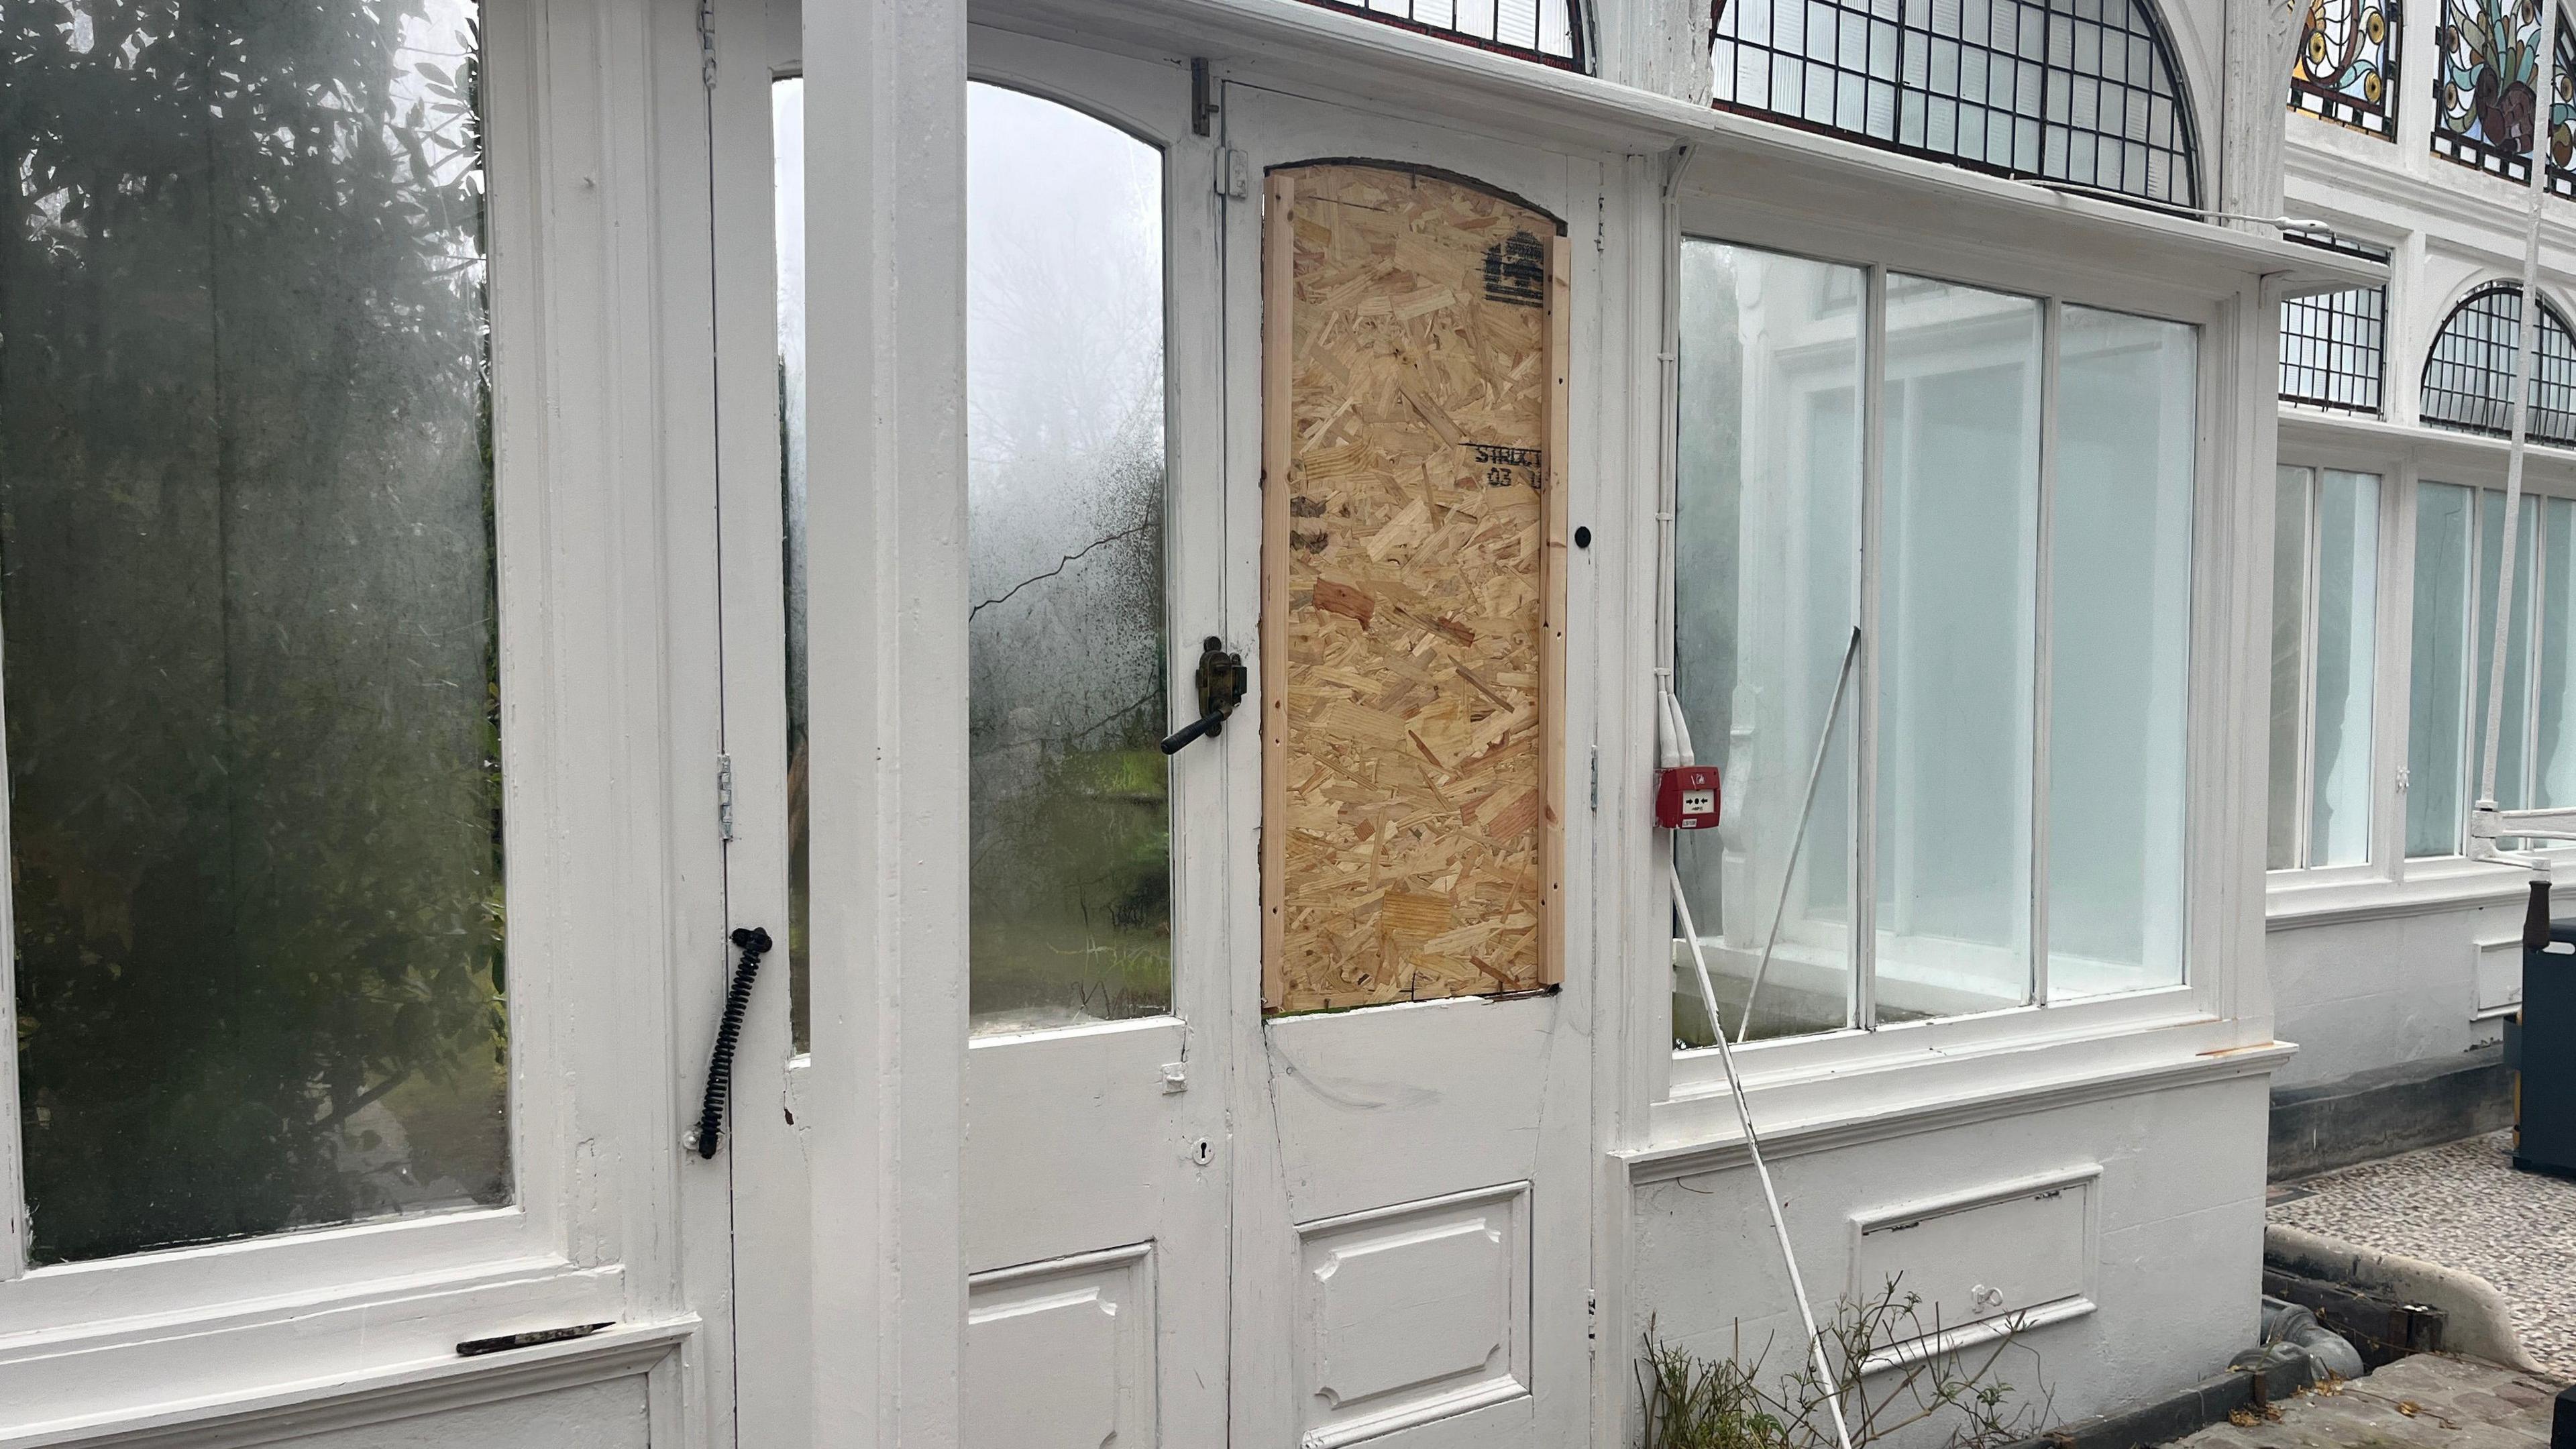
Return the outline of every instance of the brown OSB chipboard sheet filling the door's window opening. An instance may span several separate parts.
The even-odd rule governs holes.
[[[1556,222],[1370,165],[1267,201],[1262,1000],[1553,985]]]

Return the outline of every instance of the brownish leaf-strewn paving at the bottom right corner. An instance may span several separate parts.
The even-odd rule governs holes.
[[[2548,1449],[2558,1387],[2468,1359],[2419,1354],[2308,1390],[2280,1418],[2218,1423],[2179,1449]]]

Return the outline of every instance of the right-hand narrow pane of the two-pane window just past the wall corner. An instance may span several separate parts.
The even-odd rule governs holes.
[[[2380,480],[2326,469],[2316,492],[2316,743],[2311,866],[2370,861],[2370,704],[2380,601]]]

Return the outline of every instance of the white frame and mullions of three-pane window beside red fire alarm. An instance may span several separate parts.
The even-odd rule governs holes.
[[[1971,206],[1976,206],[1976,201],[1960,199],[1963,211]],[[1996,219],[1994,227],[2004,229],[2007,222]],[[1873,420],[1880,415],[1878,358],[1886,351],[1886,312],[1880,299],[1888,273],[1932,276],[1963,286],[2043,299],[2048,304],[2043,364],[2048,369],[2045,389],[2050,400],[2043,410],[2038,503],[2038,526],[2043,529],[2043,539],[2056,472],[2053,389],[2061,309],[2076,304],[2184,322],[2192,325],[2200,338],[2200,382],[2195,397],[2200,438],[2192,469],[2192,621],[2184,691],[2184,758],[2190,761],[2187,779],[2192,792],[2184,810],[2184,982],[2123,995],[2048,1003],[2043,933],[2045,900],[2035,900],[2032,977],[2038,1003],[1937,1021],[1754,1042],[1739,1052],[1739,1067],[1749,1091],[1757,1096],[1757,1114],[1767,1122],[1839,1122],[1883,1114],[1891,1104],[1888,1088],[1880,1085],[1883,1070],[1924,1073],[1909,1091],[1942,1093],[1950,1088],[1935,1078],[1953,1083],[1953,1088],[1965,1088],[1965,1083],[1981,1070],[1976,1062],[1986,1062],[1984,1073],[1989,1080],[1996,1078],[1991,1062],[1996,1062],[1999,1055],[2009,1055],[2012,1078],[2038,1080],[2069,1073],[2092,1078],[2123,1073],[2136,1075],[2161,1070],[2177,1060],[2205,1052],[2244,1047],[2244,1042],[2239,1042],[2239,1024],[2233,1016],[2241,1008],[2241,977],[2246,964],[2241,962],[2244,944],[2233,938],[2226,918],[2228,890],[2223,890],[2223,874],[2226,861],[2231,856],[2241,856],[2246,846],[2228,825],[2228,792],[2221,779],[2223,771],[2210,771],[2205,763],[2223,761],[2236,748],[2231,745],[2231,735],[2239,727],[2228,717],[2228,696],[2241,688],[2231,673],[2244,668],[2244,660],[2241,647],[2228,639],[2228,616],[2241,611],[2233,598],[2246,583],[2246,570],[2239,567],[2239,549],[2244,544],[2241,536],[2233,536],[2233,531],[2241,529],[2249,503],[2244,498],[2231,498],[2228,482],[2257,464],[2254,449],[2249,446],[2251,438],[2246,436],[2246,418],[2254,413],[2241,405],[2236,392],[2241,392],[2239,379],[2259,376],[2262,382],[2254,384],[2254,397],[2259,400],[2259,407],[2272,407],[2272,392],[2280,374],[2277,333],[2275,327],[2249,330],[2246,317],[2257,312],[2262,317],[2272,317],[2275,304],[2262,297],[2262,286],[2254,276],[2246,276],[2246,286],[2239,291],[2218,294],[2208,286],[2208,273],[2200,271],[2195,276],[2195,268],[2182,255],[2154,258],[2151,245],[2138,245],[2133,255],[2117,255],[2115,250],[2105,250],[2097,237],[2069,237],[2058,232],[2053,222],[2025,219],[2022,229],[2012,240],[1991,237],[1986,245],[1978,245],[1973,237],[1976,227],[1958,227],[1958,232],[1965,235],[1955,237],[1929,237],[1924,229],[1906,229],[1891,219],[1824,217],[1795,209],[1785,196],[1770,204],[1747,204],[1741,196],[1685,196],[1677,206],[1677,232],[1868,268],[1870,361],[1865,374],[1865,415]],[[1677,237],[1667,237],[1667,245],[1677,245]],[[1672,302],[1677,304],[1677,299]],[[2246,335],[2257,340],[2251,351],[2246,351]],[[1669,428],[1672,420],[1667,418],[1664,425]],[[1862,557],[1875,557],[1878,552],[1875,521],[1883,467],[1880,449],[1883,443],[1873,423],[1865,433],[1862,454]],[[2264,495],[2259,508],[2264,508],[2267,518],[2272,485],[2269,459],[2259,462],[2259,492]],[[2264,534],[2259,544],[2262,549],[2269,549],[2269,534]],[[2048,691],[2045,559],[2048,552],[2043,547],[2035,596],[2040,608],[2040,632],[2035,639],[2038,670],[2032,681],[2038,701],[2045,701]],[[1875,567],[1862,570],[1865,619],[1873,616],[1875,608],[1873,575]],[[1654,580],[1654,590],[1664,588],[1669,588],[1664,580]],[[1654,639],[1656,660],[1669,657],[1669,650],[1672,639]],[[2267,639],[2254,652],[2267,660]],[[2264,668],[2264,681],[2269,681],[2269,668]],[[1850,688],[1862,719],[1868,719],[1875,712],[1875,637],[1870,632],[1862,634],[1862,665]],[[2264,699],[2264,709],[2267,706],[2269,701]],[[1870,748],[1865,745],[1873,735],[1873,727],[1860,732],[1857,792],[1862,799],[1868,799],[1875,789]],[[2048,737],[2043,706],[2032,730],[2030,761],[2035,771],[2032,810],[2038,815],[2032,822],[2035,892],[2045,890],[2040,871],[2045,871],[2048,859],[2045,750]],[[2259,779],[2259,773],[2254,779]],[[1860,851],[1870,851],[1875,846],[1868,830],[1860,833],[1857,846]],[[1654,920],[1669,920],[1672,890],[1662,866],[1662,861],[1669,859],[1669,841],[1654,841],[1649,859],[1654,861],[1656,874],[1654,884],[1643,892],[1646,910]],[[2251,843],[2251,861],[2259,869],[2259,835]],[[1873,892],[1865,892],[1860,900],[1860,910],[1865,915],[1875,905],[1868,895]],[[1868,938],[1868,931],[1862,931],[1862,938]],[[1649,926],[1643,941],[1669,949],[1672,931],[1656,931]],[[1651,964],[1641,962],[1641,980],[1636,982],[1641,1000],[1636,1003],[1636,1026],[1631,1026],[1636,1042],[1636,1062],[1631,1067],[1631,1080],[1636,1085],[1631,1091],[1641,1091],[1646,1098],[1646,1145],[1638,1147],[1638,1152],[1680,1150],[1667,1145],[1734,1137],[1734,1109],[1726,1104],[1726,1080],[1718,1052],[1669,1049],[1672,980],[1674,972],[1667,969],[1662,959]],[[1868,977],[1862,977],[1860,990],[1868,990]]]

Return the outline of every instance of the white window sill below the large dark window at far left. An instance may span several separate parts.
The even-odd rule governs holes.
[[[0,1449],[88,1444],[93,1434],[193,1423],[252,1403],[301,1403],[332,1387],[420,1377],[446,1364],[459,1372],[518,1364],[520,1354],[456,1359],[456,1343],[616,1323],[626,1312],[621,1269],[533,1258],[379,1279],[332,1294],[13,1333],[0,1338]],[[626,1338],[608,1330],[559,1348]],[[206,1441],[191,1434],[103,1441]]]

